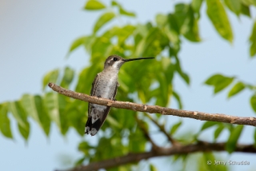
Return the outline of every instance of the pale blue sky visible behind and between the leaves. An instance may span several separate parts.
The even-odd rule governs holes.
[[[109,2],[109,1],[108,1]],[[122,19],[120,22],[153,21],[157,13],[166,14],[174,4],[182,1],[126,1],[122,2],[127,10],[133,10],[138,18],[135,21]],[[183,1],[184,2],[184,1]],[[188,2],[188,1],[186,1]],[[77,72],[88,65],[88,56],[80,48],[64,59],[70,43],[79,36],[90,34],[98,12],[87,13],[82,10],[85,1],[14,1],[0,2],[0,102],[13,101],[23,93],[41,93],[42,76],[47,71],[64,66],[71,66]],[[229,13],[234,29],[234,43],[230,45],[216,34],[213,26],[206,18],[206,8],[202,9],[199,23],[201,43],[183,40],[180,58],[182,67],[190,74],[191,85],[186,86],[179,78],[175,79],[174,88],[182,95],[184,109],[198,110],[209,113],[226,113],[235,116],[253,116],[250,108],[250,91],[227,100],[227,91],[213,95],[213,89],[202,82],[210,75],[220,73],[238,76],[245,82],[255,84],[256,59],[249,57],[248,36],[252,20],[246,17],[236,18]],[[253,15],[255,16],[255,10]],[[103,65],[103,64],[102,64]],[[174,103],[171,107],[176,108]],[[170,123],[178,121],[178,117],[167,117]],[[66,156],[73,162],[82,157],[77,145],[82,139],[94,141],[94,137],[79,137],[71,129],[66,137],[62,137],[55,125],[52,126],[50,137],[45,137],[42,129],[34,121],[31,123],[29,141],[24,142],[18,133],[17,124],[11,117],[14,140],[0,135],[0,168],[1,170],[53,170],[61,167],[60,157]],[[184,119],[183,132],[187,129],[198,130],[202,121]],[[82,128],[83,129],[83,128]],[[240,138],[242,143],[253,142],[254,129],[246,126]],[[182,131],[181,131],[182,132]],[[221,139],[226,140],[228,133],[222,133]],[[203,133],[202,139],[209,140],[210,133]],[[249,166],[234,166],[234,170],[245,170],[256,167],[256,155],[235,153],[226,160],[250,161]],[[170,164],[158,159],[152,162],[158,165]]]

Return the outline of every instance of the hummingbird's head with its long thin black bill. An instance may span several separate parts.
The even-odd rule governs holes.
[[[131,58],[131,59],[124,59],[116,54],[110,55],[108,58],[106,58],[106,62],[104,63],[104,69],[115,69],[119,70],[122,64],[125,62],[131,62],[135,60],[140,60],[140,59],[152,59],[152,58]]]

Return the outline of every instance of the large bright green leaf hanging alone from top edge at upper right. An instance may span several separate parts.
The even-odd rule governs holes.
[[[218,34],[226,40],[233,42],[233,33],[230,21],[226,15],[226,11],[220,0],[206,0],[207,14],[211,22],[214,24]]]

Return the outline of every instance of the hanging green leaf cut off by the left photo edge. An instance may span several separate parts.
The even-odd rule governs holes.
[[[8,117],[8,103],[0,104],[0,130],[5,137],[12,138],[10,119]]]

